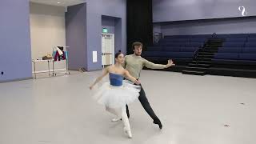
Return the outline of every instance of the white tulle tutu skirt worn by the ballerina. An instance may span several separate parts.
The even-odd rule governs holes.
[[[140,90],[140,86],[127,80],[122,81],[122,86],[112,86],[110,82],[104,82],[102,86],[94,89],[93,98],[104,106],[119,108],[137,100]]]

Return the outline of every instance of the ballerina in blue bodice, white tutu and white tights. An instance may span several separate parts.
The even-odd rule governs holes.
[[[106,106],[108,112],[116,116],[112,119],[112,122],[122,119],[125,134],[132,138],[126,105],[138,99],[140,86],[136,86],[134,83],[140,84],[140,82],[122,67],[124,54],[121,51],[115,54],[114,58],[115,64],[103,70],[103,74],[90,86],[90,90],[93,90],[94,86],[109,74],[110,82],[104,82],[102,86],[96,89],[94,98],[97,99],[98,103]],[[123,78],[130,81],[123,80]]]

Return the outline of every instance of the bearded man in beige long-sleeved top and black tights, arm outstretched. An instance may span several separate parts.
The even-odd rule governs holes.
[[[140,77],[140,72],[143,66],[146,66],[147,68],[150,68],[150,69],[165,69],[170,66],[174,66],[174,62],[172,62],[171,60],[168,60],[168,63],[166,65],[154,64],[153,62],[147,61],[146,59],[141,57],[142,47],[143,45],[141,42],[134,42],[132,45],[134,54],[126,55],[125,57],[124,67],[126,68],[126,70],[129,71],[130,75],[132,75],[134,78],[138,79]],[[160,119],[154,114],[154,110],[152,110],[150,103],[146,98],[145,91],[143,90],[141,84],[140,86],[141,86],[141,91],[138,97],[139,102],[141,102],[147,114],[149,114],[150,117],[154,120],[153,121],[154,124],[158,124],[159,128],[162,129],[162,123]],[[129,114],[129,109],[127,105],[126,105],[126,113],[129,118],[130,114]]]

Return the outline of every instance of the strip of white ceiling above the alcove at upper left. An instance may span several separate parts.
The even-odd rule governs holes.
[[[83,3],[85,0],[30,0],[30,2],[42,3],[51,6],[73,6]]]

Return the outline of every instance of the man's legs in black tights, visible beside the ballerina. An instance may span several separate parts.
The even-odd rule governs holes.
[[[146,98],[146,94],[145,94],[145,91],[141,86],[141,91],[139,92],[139,97],[138,97],[138,100],[139,102],[141,102],[144,110],[146,110],[146,113],[150,115],[150,117],[154,120],[154,124],[158,124],[159,128],[162,129],[162,123],[160,121],[160,119],[154,114],[154,110],[151,108],[150,106],[150,102],[148,102],[147,98]],[[128,111],[128,113],[127,113]],[[127,113],[127,116],[129,114],[129,109],[128,109],[128,106],[126,105],[126,113]],[[130,116],[130,114],[129,114]]]

